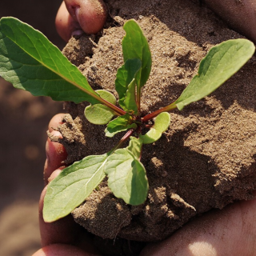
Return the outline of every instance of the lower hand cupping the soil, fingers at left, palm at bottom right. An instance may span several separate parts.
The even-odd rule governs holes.
[[[49,124],[54,136],[61,136],[52,129],[62,122],[62,115],[56,115]],[[56,142],[46,142],[46,166],[44,177],[46,184],[63,169],[62,161],[66,151]],[[62,167],[60,167],[62,166]],[[42,237],[42,249],[33,256],[52,255],[99,255],[92,246],[90,234],[78,226],[71,216],[57,222],[46,223],[42,219],[42,192],[39,203],[39,222]],[[236,202],[223,210],[211,210],[189,222],[165,241],[150,244],[142,250],[141,256],[200,256],[200,255],[256,255],[256,199]]]

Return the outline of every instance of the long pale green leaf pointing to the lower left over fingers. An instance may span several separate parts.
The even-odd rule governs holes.
[[[105,177],[104,166],[108,154],[90,155],[74,162],[54,178],[47,187],[43,218],[54,222],[70,214],[91,194]]]

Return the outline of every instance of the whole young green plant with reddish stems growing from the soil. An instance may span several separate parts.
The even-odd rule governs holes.
[[[150,48],[134,20],[126,22],[124,30],[124,65],[118,69],[115,81],[117,106],[113,94],[106,90],[94,91],[78,68],[40,32],[15,18],[0,21],[2,78],[35,96],[50,96],[57,101],[90,102],[85,110],[86,118],[94,124],[106,124],[108,137],[126,131],[112,150],[74,162],[50,182],[43,210],[46,222],[70,214],[106,176],[116,197],[131,205],[145,202],[149,185],[146,170],[140,162],[142,145],[156,142],[167,130],[170,110],[182,110],[212,93],[254,54],[254,44],[246,39],[229,40],[214,46],[202,59],[198,74],[175,102],[142,116],[141,91],[150,76]],[[142,134],[145,129],[148,131]],[[129,146],[122,148],[128,139]]]

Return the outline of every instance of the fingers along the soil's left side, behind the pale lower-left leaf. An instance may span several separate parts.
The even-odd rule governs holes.
[[[61,134],[53,130],[62,122],[63,114],[57,114],[49,123],[49,131],[54,136],[60,137]],[[51,142],[48,138],[46,142],[46,165],[44,168],[44,180],[47,185],[52,179],[58,176],[65,166],[62,162],[66,159],[66,150],[57,143]],[[46,194],[46,187],[42,191],[39,201],[39,225],[42,240],[42,249],[38,250],[33,256],[92,256],[99,255],[92,246],[92,238],[86,230],[74,222],[69,215],[57,222],[46,223],[42,218],[43,198]]]

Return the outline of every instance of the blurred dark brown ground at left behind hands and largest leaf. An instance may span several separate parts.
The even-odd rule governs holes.
[[[60,50],[54,19],[61,0],[2,0],[0,18],[13,16],[42,31]],[[0,77],[0,255],[40,248],[38,198],[43,188],[46,130],[62,102],[33,97]]]

